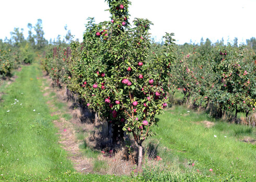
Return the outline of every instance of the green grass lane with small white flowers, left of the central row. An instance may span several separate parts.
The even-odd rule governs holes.
[[[39,65],[22,67],[17,76],[14,83],[1,87],[6,94],[0,103],[0,181],[130,181],[129,177],[76,173],[58,144],[54,116],[40,91],[42,79],[37,79]]]

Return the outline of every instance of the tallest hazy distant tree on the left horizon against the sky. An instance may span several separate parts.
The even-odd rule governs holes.
[[[42,27],[42,20],[38,19],[37,24],[34,26],[34,31],[36,32],[36,35],[34,35],[34,40],[36,42],[36,48],[41,49],[45,45],[48,44],[48,42],[43,37],[43,27]]]

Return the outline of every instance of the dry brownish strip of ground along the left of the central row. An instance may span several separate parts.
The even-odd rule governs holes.
[[[55,126],[59,128],[59,133],[57,133],[60,135],[59,143],[63,149],[68,152],[68,159],[72,161],[77,172],[92,173],[92,160],[83,155],[82,151],[79,149],[80,142],[76,139],[77,131],[75,127],[86,127],[86,124],[82,124],[79,120],[79,109],[72,109],[71,106],[73,103],[67,101],[64,90],[48,86],[51,85],[52,82],[49,76],[43,76],[43,79],[45,82],[42,85],[41,91],[44,97],[50,98],[47,105],[52,110],[51,115],[57,115],[60,118],[54,121]],[[56,95],[50,96],[51,93],[56,93]],[[55,102],[63,103],[63,111],[60,111],[55,106],[54,99],[56,99]],[[67,121],[65,118],[62,118],[63,112],[70,114],[72,119]]]

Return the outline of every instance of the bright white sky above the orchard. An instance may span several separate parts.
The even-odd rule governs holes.
[[[256,0],[131,0],[130,23],[134,18],[152,21],[150,33],[161,41],[165,32],[174,33],[177,44],[200,43],[203,37],[212,42],[224,43],[238,38],[246,43],[256,37]],[[88,17],[96,23],[110,21],[107,2],[104,0],[2,0],[0,3],[0,39],[10,38],[15,27],[23,28],[27,37],[27,24],[42,19],[44,37],[52,40],[65,36],[71,30],[74,38],[83,39]]]

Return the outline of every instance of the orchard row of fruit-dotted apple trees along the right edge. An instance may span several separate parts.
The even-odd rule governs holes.
[[[255,112],[256,54],[248,46],[190,46],[179,50],[170,85],[181,89],[195,108],[210,106],[218,114]],[[184,51],[184,52],[183,52]]]

